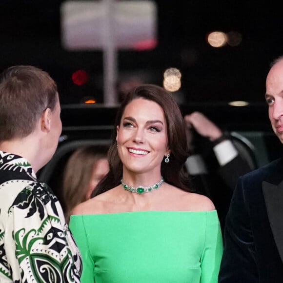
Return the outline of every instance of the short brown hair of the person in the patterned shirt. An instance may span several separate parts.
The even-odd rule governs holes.
[[[12,66],[0,75],[0,141],[24,138],[46,108],[54,110],[57,84],[34,66]]]

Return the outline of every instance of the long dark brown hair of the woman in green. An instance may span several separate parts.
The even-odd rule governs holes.
[[[121,183],[123,166],[117,150],[117,126],[120,125],[125,107],[131,101],[138,98],[158,103],[164,112],[167,124],[168,148],[171,151],[170,162],[165,163],[163,159],[161,164],[161,174],[165,182],[179,187],[182,190],[191,191],[189,188],[189,179],[183,170],[184,162],[188,157],[188,147],[185,134],[185,122],[181,110],[173,97],[164,88],[154,84],[142,84],[133,88],[127,94],[118,109],[112,132],[112,142],[108,152],[110,170],[97,185],[92,197],[108,191]]]

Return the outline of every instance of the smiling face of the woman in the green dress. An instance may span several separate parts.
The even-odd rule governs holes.
[[[124,110],[117,127],[118,153],[124,169],[160,174],[167,149],[167,125],[162,107],[138,98]]]

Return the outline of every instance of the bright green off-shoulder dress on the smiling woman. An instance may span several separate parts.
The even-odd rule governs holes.
[[[217,283],[222,234],[216,210],[71,216],[82,283]]]

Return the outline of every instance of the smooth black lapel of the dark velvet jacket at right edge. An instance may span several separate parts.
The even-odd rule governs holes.
[[[262,183],[268,219],[283,262],[283,159]]]

